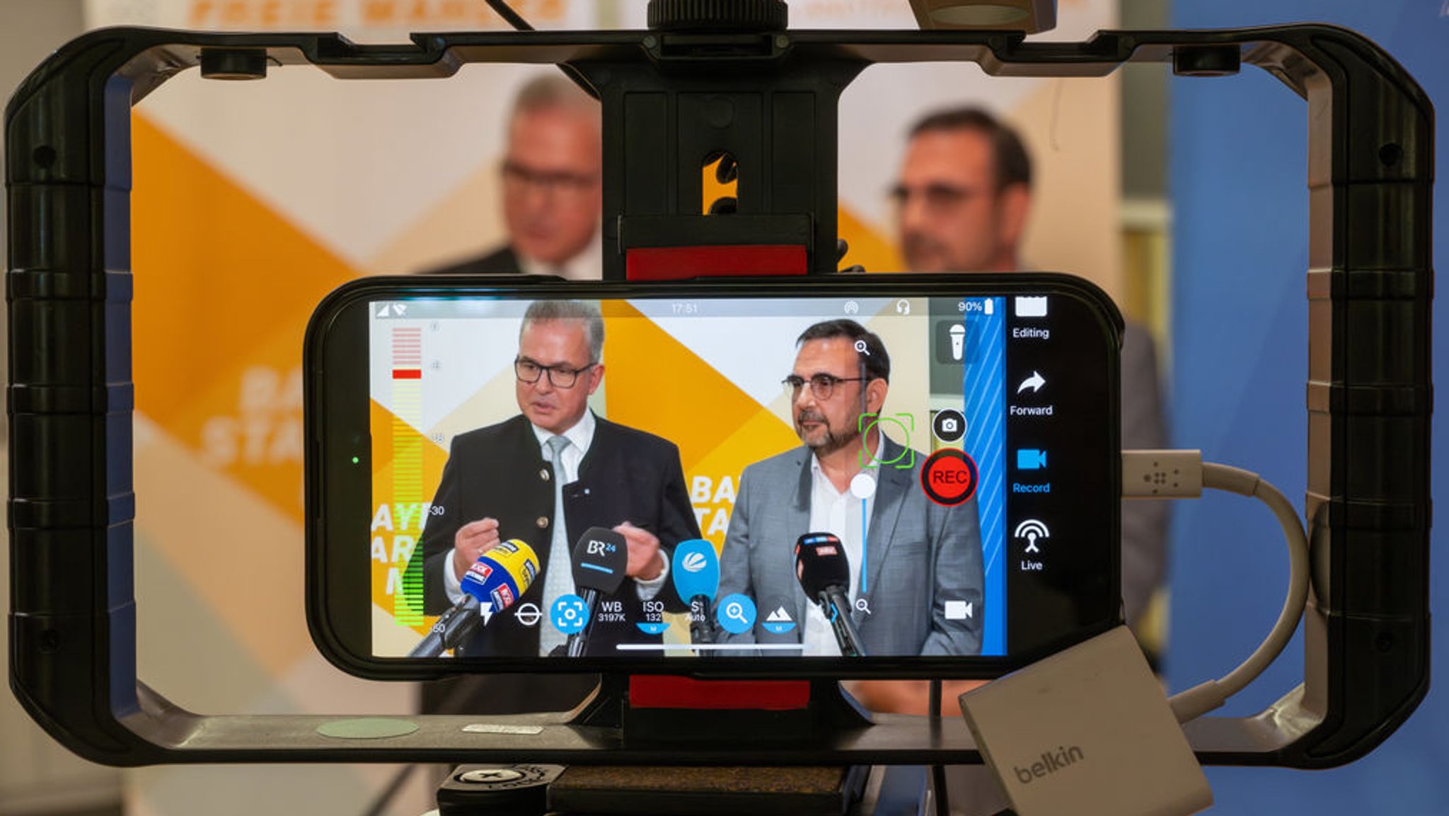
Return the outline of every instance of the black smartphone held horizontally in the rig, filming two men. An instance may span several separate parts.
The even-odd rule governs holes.
[[[375,678],[994,677],[1120,622],[1120,341],[1048,272],[346,284],[313,638]]]

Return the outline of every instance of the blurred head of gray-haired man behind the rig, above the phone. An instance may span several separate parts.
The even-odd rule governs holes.
[[[519,91],[509,115],[503,220],[509,243],[436,274],[549,274],[598,280],[603,248],[598,103],[558,74]]]

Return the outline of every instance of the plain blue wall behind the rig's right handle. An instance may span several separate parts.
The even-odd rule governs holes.
[[[1387,48],[1439,107],[1436,154],[1449,162],[1449,0],[1307,3],[1178,0],[1174,28],[1329,22]],[[1232,78],[1174,78],[1174,444],[1255,470],[1301,507],[1307,420],[1307,188],[1304,103],[1256,68]],[[1449,194],[1435,194],[1435,268],[1449,270]],[[1435,304],[1435,380],[1449,383],[1449,299]],[[1445,393],[1440,390],[1440,393]],[[1443,412],[1443,407],[1440,407]],[[1435,430],[1433,500],[1449,507],[1449,455]],[[1287,562],[1272,519],[1253,503],[1181,503],[1174,525],[1166,674],[1174,690],[1236,665],[1281,606]],[[1443,510],[1440,510],[1442,513]],[[1442,529],[1442,525],[1440,525]],[[1439,544],[1442,535],[1435,536]],[[1445,609],[1445,561],[1430,577]],[[1446,628],[1433,638],[1446,654]],[[1301,636],[1226,713],[1249,713],[1301,680]],[[1427,700],[1369,757],[1330,771],[1210,768],[1211,813],[1449,813],[1449,690]]]

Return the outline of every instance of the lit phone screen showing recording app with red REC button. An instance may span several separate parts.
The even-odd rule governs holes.
[[[368,304],[375,655],[995,657],[1106,587],[1075,299],[584,304],[597,364],[520,348],[532,301]]]

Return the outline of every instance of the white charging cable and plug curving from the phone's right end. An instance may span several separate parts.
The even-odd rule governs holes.
[[[1203,462],[1201,451],[1123,451],[1123,499],[1197,499],[1203,488],[1258,499],[1277,516],[1288,542],[1288,597],[1272,630],[1237,668],[1174,694],[1168,703],[1178,722],[1197,719],[1222,706],[1252,683],[1293,638],[1308,601],[1308,536],[1293,503],[1258,474]]]

